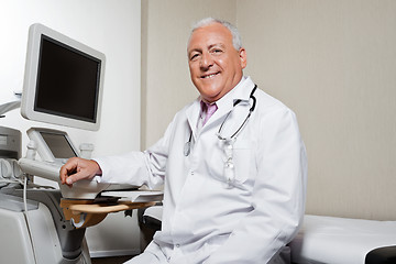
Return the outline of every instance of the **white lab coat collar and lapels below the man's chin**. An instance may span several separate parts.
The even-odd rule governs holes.
[[[249,103],[250,94],[254,88],[254,82],[250,77],[242,77],[241,81],[222,98],[216,101],[218,110],[209,119],[205,127],[209,127],[211,122],[215,122],[219,118],[226,116],[233,108],[233,103],[237,100]],[[186,110],[186,116],[194,138],[197,136],[197,122],[200,113],[201,97],[198,97]]]

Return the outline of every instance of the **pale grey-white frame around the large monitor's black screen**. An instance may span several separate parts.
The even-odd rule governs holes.
[[[63,117],[58,114],[46,113],[42,111],[36,111],[34,109],[36,91],[37,91],[36,82],[37,82],[38,61],[41,53],[40,50],[41,50],[41,42],[43,35],[61,43],[64,46],[68,46],[72,50],[77,50],[79,53],[86,54],[90,57],[94,57],[97,61],[100,61],[99,86],[97,87],[98,95],[97,95],[97,105],[96,105],[96,117],[94,122],[69,118],[69,117]],[[24,84],[23,84],[22,101],[21,101],[22,117],[38,122],[65,125],[65,127],[77,128],[82,130],[91,130],[91,131],[99,130],[100,117],[101,117],[101,102],[102,102],[102,94],[103,94],[105,66],[106,66],[105,54],[80,42],[77,42],[57,31],[54,31],[43,24],[36,23],[31,25],[29,30]]]

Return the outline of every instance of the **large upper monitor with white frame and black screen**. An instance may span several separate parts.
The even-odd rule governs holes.
[[[21,114],[98,130],[106,57],[42,24],[29,30]]]

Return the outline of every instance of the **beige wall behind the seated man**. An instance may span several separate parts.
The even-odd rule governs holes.
[[[245,74],[298,116],[307,213],[396,220],[396,1],[143,2],[143,146],[197,96],[190,23],[227,19],[248,50]]]

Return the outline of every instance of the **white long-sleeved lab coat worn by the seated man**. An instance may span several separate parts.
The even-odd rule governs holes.
[[[164,184],[162,231],[146,249],[179,264],[268,263],[296,234],[305,210],[307,161],[294,112],[257,89],[256,106],[234,142],[235,182],[223,176],[218,139],[242,124],[253,100],[244,77],[217,101],[198,131],[200,98],[176,113],[165,135],[143,153],[96,158],[106,183]],[[233,101],[242,101],[233,107]],[[199,127],[199,125],[198,125]],[[185,156],[189,140],[191,152]]]

